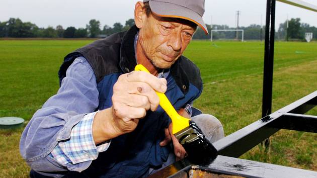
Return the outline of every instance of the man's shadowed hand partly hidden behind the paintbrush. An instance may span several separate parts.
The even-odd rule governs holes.
[[[178,111],[178,114],[180,114],[183,117],[190,118],[189,114],[183,108]],[[165,139],[160,143],[160,146],[166,146],[172,140],[174,145],[174,153],[176,155],[176,161],[178,161],[180,159],[183,159],[187,153],[184,147],[178,142],[177,138],[173,135],[172,130],[173,124],[171,123],[169,125],[169,128],[165,129]]]

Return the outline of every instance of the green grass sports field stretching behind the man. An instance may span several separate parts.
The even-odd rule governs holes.
[[[0,117],[30,120],[59,87],[63,57],[91,41],[1,41]],[[193,41],[185,52],[201,69],[204,92],[194,105],[216,116],[225,134],[261,117],[263,42]],[[273,111],[317,90],[317,43],[276,42]],[[317,108],[309,111],[317,115]],[[0,177],[27,177],[19,153],[23,129],[0,130]],[[271,147],[260,146],[241,158],[317,170],[317,135],[281,130]]]

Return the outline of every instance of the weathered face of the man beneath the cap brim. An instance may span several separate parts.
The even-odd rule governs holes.
[[[161,18],[151,14],[139,32],[144,55],[157,68],[169,68],[190,43],[196,25],[192,22]]]

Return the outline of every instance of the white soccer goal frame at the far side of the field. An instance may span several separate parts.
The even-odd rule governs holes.
[[[244,41],[244,30],[211,30],[210,40],[237,40]]]

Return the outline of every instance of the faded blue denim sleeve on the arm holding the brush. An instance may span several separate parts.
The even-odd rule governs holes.
[[[81,130],[81,127],[87,128],[93,123],[92,115],[87,113],[96,111],[99,105],[98,97],[99,92],[93,69],[86,58],[76,58],[68,67],[57,94],[49,98],[42,108],[33,115],[22,133],[20,153],[33,170],[37,172],[82,171],[89,167],[92,159],[98,153],[91,154],[89,160],[85,159],[87,161],[66,165],[59,163],[50,153],[56,145],[66,144],[67,141],[73,143],[76,139],[72,140],[71,135],[75,135],[75,130]],[[91,120],[88,119],[89,116],[91,116]],[[85,118],[87,120],[84,120]],[[82,126],[82,124],[85,126]],[[86,129],[86,133],[88,132],[91,132],[91,130]],[[90,141],[93,140],[92,137],[89,138],[88,135],[90,134],[84,135],[86,136],[81,138],[86,139],[87,137]],[[73,136],[73,138],[76,138],[76,136]],[[94,146],[81,145],[79,147],[85,149],[84,151],[88,150],[90,154],[96,151],[91,149]],[[103,146],[107,147],[107,144]],[[105,147],[98,147],[97,152],[104,151]],[[66,150],[63,147],[60,148],[61,152]],[[72,153],[72,151],[67,152],[66,150],[64,154],[67,157]],[[80,155],[82,156],[82,154]],[[67,157],[65,159],[71,162],[72,158]],[[79,161],[79,159],[73,160],[75,162]]]

